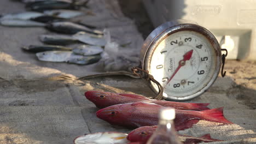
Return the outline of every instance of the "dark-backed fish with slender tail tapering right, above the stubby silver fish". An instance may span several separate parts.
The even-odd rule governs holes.
[[[101,31],[97,31],[94,29],[90,29],[86,26],[78,25],[77,23],[73,22],[52,22],[46,26],[46,28],[66,34],[75,34],[77,32],[89,32],[95,34],[103,34]]]

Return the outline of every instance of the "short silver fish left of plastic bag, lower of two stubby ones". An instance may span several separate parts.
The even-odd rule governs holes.
[[[92,45],[81,45],[72,50],[75,54],[91,56],[91,55],[99,55],[104,50],[100,46],[92,46]]]

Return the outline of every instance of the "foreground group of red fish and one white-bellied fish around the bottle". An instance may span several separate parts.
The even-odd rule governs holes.
[[[129,135],[114,132],[83,135],[74,140],[77,144],[146,143],[156,129],[155,125],[158,124],[159,110],[166,106],[176,109],[174,124],[177,131],[191,128],[200,120],[232,124],[224,117],[223,107],[209,109],[208,103],[180,103],[148,99],[136,94],[100,91],[85,92],[85,97],[101,109],[96,112],[98,118],[110,124],[137,129],[131,131]],[[179,138],[183,143],[220,141],[212,139],[209,134],[201,137],[179,135]]]

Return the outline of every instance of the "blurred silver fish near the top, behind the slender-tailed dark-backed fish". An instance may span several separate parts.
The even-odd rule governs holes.
[[[84,13],[77,10],[66,10],[66,9],[56,9],[56,10],[45,10],[44,14],[61,17],[63,19],[70,19],[83,15]]]

